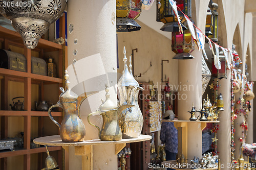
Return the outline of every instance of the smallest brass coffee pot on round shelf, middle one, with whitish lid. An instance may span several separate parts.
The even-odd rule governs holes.
[[[129,107],[133,107],[134,105],[122,105],[117,107],[115,103],[110,100],[109,88],[106,85],[106,99],[100,105],[99,109],[96,112],[90,113],[88,115],[88,122],[90,125],[96,127],[99,131],[99,139],[103,141],[116,141],[122,140],[122,132],[119,127],[118,116],[119,114]],[[102,128],[100,128],[90,122],[91,115],[100,114],[103,118]]]

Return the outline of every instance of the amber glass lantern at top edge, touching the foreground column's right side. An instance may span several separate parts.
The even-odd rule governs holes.
[[[139,31],[140,25],[135,21],[141,13],[140,0],[117,0],[116,1],[116,31],[131,32]]]

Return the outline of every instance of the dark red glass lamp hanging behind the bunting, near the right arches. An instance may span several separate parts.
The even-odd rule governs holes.
[[[214,65],[214,58],[212,58],[212,70],[211,74],[212,77],[222,79],[222,78],[227,78],[227,69],[226,69],[226,60],[225,56],[223,55],[223,52],[220,52],[219,59],[221,62],[221,69],[217,69]]]

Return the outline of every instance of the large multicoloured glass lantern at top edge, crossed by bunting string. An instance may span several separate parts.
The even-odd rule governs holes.
[[[177,10],[181,22],[185,21],[182,12],[188,17],[191,17],[191,0],[176,0],[176,5],[179,7]],[[179,11],[179,9],[182,10],[182,12]],[[157,1],[157,21],[164,23],[164,26],[160,30],[179,32],[178,19],[168,0]],[[181,26],[183,30],[187,29],[182,23]]]

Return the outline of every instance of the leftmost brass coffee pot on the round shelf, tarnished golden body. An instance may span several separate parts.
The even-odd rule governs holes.
[[[92,94],[98,93],[98,91],[84,92],[79,96],[74,93],[71,94],[67,70],[65,70],[64,78],[66,80],[66,91],[62,87],[59,88],[61,91],[59,101],[56,105],[52,105],[49,108],[48,113],[52,122],[59,127],[60,137],[63,142],[80,142],[83,141],[86,136],[86,128],[84,127],[80,117],[80,106],[85,99]],[[64,111],[64,117],[61,125],[59,125],[52,117],[51,110],[54,107],[61,107]]]

